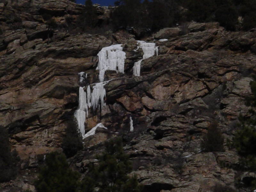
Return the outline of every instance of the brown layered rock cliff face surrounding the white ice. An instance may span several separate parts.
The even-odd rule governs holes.
[[[82,5],[65,0],[0,3],[0,122],[22,159],[21,172],[37,167],[42,155],[61,150],[67,121],[78,108],[79,86],[99,82],[98,52],[122,44],[124,74],[106,70],[104,81],[112,79],[105,84],[106,107],[96,113],[90,109],[85,122],[86,132],[98,123],[108,131],[84,139],[86,152],[73,159],[74,168],[83,170],[88,151],[97,150],[93,146],[122,132],[145,191],[211,191],[215,183],[234,187],[240,182],[245,173],[232,168],[238,164],[235,151],[225,147],[225,152],[204,153],[200,143],[214,120],[226,141],[238,115],[248,116],[244,97],[251,94],[256,31],[229,32],[218,23],[192,23],[186,35],[164,29],[155,36],[167,38],[154,41],[158,56],[142,60],[140,76],[134,76],[134,62],[142,59],[143,50],[133,36],[124,31],[70,35],[44,24],[42,13],[63,19],[81,10]],[[11,23],[20,24],[19,29]],[[79,72],[87,74],[87,84],[80,84]],[[128,133],[130,117],[133,133]],[[32,188],[20,178],[12,187]]]

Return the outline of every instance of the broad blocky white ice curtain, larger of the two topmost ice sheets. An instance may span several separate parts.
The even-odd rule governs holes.
[[[98,53],[99,63],[96,69],[100,70],[99,80],[104,81],[105,70],[116,70],[124,73],[125,52],[122,44],[103,47]]]

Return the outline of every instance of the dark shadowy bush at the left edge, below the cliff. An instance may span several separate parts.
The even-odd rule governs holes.
[[[16,150],[11,152],[7,130],[0,126],[0,182],[6,182],[16,177],[19,160]]]

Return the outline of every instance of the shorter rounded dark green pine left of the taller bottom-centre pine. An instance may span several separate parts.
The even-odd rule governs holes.
[[[76,192],[80,174],[68,167],[64,154],[52,152],[46,155],[45,166],[35,181],[38,192]]]

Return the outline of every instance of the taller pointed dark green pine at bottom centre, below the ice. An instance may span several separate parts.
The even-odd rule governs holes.
[[[132,163],[124,153],[120,138],[105,142],[105,150],[97,156],[98,165],[92,165],[82,181],[83,192],[140,192],[136,176],[129,177]]]

